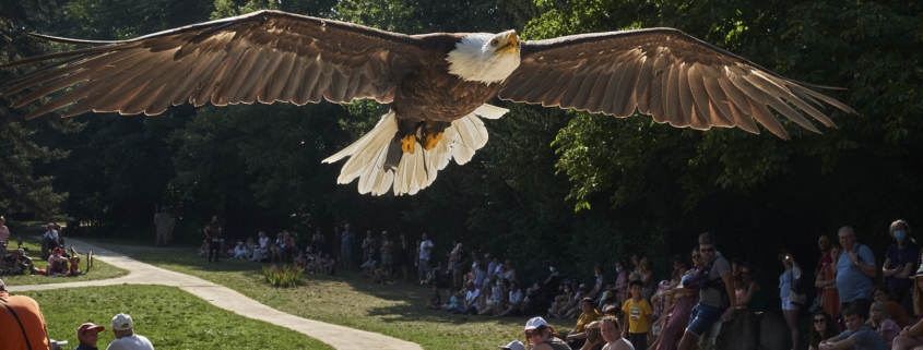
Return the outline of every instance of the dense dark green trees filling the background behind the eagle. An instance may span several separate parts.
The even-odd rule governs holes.
[[[61,203],[67,215],[93,224],[94,234],[153,237],[152,210],[167,205],[187,241],[200,239],[197,228],[211,214],[234,237],[317,227],[330,234],[348,221],[412,239],[428,231],[442,250],[459,239],[537,274],[548,261],[577,273],[630,252],[663,262],[713,231],[725,255],[778,269],[769,257],[779,249],[813,261],[817,236],[840,226],[856,227],[883,253],[890,221],[921,219],[916,1],[74,0],[2,8],[0,62],[63,49],[27,32],[125,39],[260,9],[407,34],[516,28],[528,39],[668,26],[788,77],[843,87],[825,93],[860,112],[828,110],[839,128],[824,134],[783,122],[792,140],[782,141],[495,100],[511,112],[486,123],[490,141],[470,164],[450,165],[418,195],[371,197],[335,184],[341,165],[320,164],[387,111],[371,101],[182,105],[156,117],[24,121],[26,110],[9,108],[17,95],[0,99],[0,210],[50,213]],[[23,72],[0,71],[0,82]]]

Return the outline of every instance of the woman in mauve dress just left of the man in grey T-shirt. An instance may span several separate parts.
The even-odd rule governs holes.
[[[696,266],[689,269],[685,276],[695,274],[697,270],[705,267],[705,262],[702,261],[702,255],[699,253],[698,248],[693,250],[693,263],[696,264]],[[683,338],[683,334],[686,331],[686,326],[689,325],[689,316],[693,314],[693,307],[699,303],[699,290],[683,288],[682,279],[679,286],[670,290],[670,294],[675,300],[673,313],[670,316],[670,321],[666,323],[666,327],[661,331],[660,339],[658,339],[656,350],[676,349],[676,346],[679,343],[679,339]]]

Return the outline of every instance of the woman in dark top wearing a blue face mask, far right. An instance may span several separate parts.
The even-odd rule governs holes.
[[[910,225],[904,220],[891,222],[888,233],[895,243],[888,246],[885,253],[885,265],[881,265],[881,273],[888,277],[888,288],[895,293],[897,301],[906,313],[913,311],[913,299],[910,289],[913,288],[913,280],[910,275],[916,268],[919,251],[916,241],[910,237]]]

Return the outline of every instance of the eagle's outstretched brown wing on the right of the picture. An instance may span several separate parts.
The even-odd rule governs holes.
[[[808,102],[855,111],[747,59],[672,28],[651,28],[523,41],[522,63],[501,99],[628,117],[635,108],[656,122],[706,130],[738,126],[759,133],[754,119],[782,138],[772,107],[819,133],[792,104],[827,126],[836,124]],[[806,102],[807,101],[807,102]]]

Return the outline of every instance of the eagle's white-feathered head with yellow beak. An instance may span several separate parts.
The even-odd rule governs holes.
[[[469,35],[446,58],[449,73],[488,85],[502,82],[519,68],[521,46],[516,31]]]

